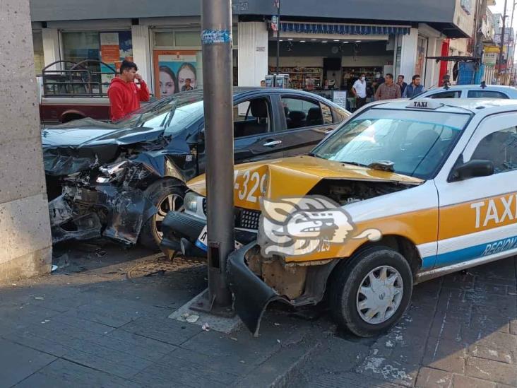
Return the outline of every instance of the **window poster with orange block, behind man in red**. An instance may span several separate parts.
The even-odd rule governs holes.
[[[131,31],[100,33],[100,60],[118,72],[124,59],[133,61]],[[105,65],[102,65],[100,70],[102,72],[102,89],[106,93],[114,74],[112,69]]]

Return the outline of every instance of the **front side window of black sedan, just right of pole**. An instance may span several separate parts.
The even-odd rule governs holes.
[[[233,107],[233,136],[265,134],[271,123],[271,110],[266,98],[254,98]]]

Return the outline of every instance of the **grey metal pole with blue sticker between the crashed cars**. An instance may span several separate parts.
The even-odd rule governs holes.
[[[231,0],[201,0],[208,210],[208,304],[230,306],[226,261],[234,251]]]

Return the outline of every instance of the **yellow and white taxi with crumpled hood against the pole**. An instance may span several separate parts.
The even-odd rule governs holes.
[[[237,165],[240,248],[227,263],[237,314],[257,333],[273,300],[328,295],[340,326],[374,336],[416,283],[516,254],[516,125],[511,100],[380,102],[310,155]],[[201,252],[204,177],[189,188],[164,244]]]

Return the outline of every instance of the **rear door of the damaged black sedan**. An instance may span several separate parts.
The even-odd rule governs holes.
[[[319,100],[290,94],[280,95],[278,100],[281,118],[274,131],[281,135],[284,156],[309,153],[338,126],[331,107]]]

